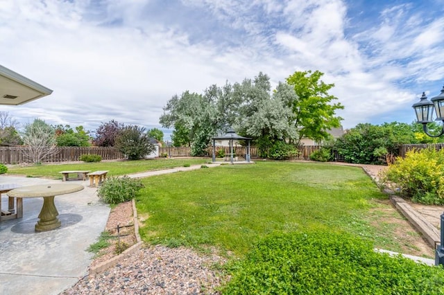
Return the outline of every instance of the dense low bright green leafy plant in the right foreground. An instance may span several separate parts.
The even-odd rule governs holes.
[[[347,233],[278,233],[228,266],[223,294],[442,294],[444,270]]]

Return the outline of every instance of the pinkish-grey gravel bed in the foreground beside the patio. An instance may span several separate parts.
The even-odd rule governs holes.
[[[219,294],[225,260],[187,249],[142,248],[116,267],[86,276],[61,294]]]

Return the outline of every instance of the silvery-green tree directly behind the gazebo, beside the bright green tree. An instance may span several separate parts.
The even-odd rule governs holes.
[[[232,94],[234,127],[240,134],[255,139],[262,157],[285,159],[294,154],[294,147],[286,141],[297,135],[294,115],[287,102],[296,98],[293,89],[283,83],[271,94],[270,78],[264,73],[259,73],[254,80],[235,83]]]

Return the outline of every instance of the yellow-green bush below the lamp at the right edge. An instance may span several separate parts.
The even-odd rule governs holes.
[[[382,184],[422,204],[444,204],[444,150],[411,150],[382,174]]]

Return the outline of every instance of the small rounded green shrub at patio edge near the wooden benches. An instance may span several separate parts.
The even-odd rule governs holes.
[[[133,199],[142,188],[144,188],[144,185],[140,179],[128,176],[110,177],[103,181],[97,195],[105,203],[119,204]]]

